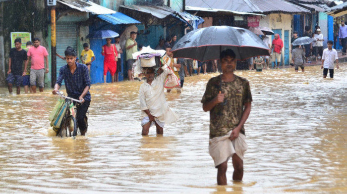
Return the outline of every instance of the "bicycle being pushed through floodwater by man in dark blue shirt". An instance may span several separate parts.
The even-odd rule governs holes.
[[[66,108],[66,112],[64,117],[61,120],[61,125],[60,125],[60,129],[57,132],[57,136],[62,137],[75,137],[77,135],[77,117],[75,115],[77,115],[77,111],[79,108],[79,105],[82,104],[82,100],[78,100],[78,99],[74,99],[72,97],[66,97],[63,95],[62,92],[58,92],[57,95],[59,97],[62,97],[65,99],[66,103],[67,103],[67,108]],[[71,114],[70,112],[70,105],[71,103],[73,103],[73,101],[78,102],[79,104],[75,104],[73,107],[73,112]],[[89,114],[89,110],[87,111],[86,116],[84,117],[85,119],[85,123],[86,123],[86,129],[88,129],[88,115]]]

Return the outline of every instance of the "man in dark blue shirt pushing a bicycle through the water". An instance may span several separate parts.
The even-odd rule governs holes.
[[[67,64],[60,67],[59,76],[52,93],[57,95],[61,87],[61,82],[64,80],[67,97],[82,101],[82,104],[78,108],[76,117],[78,128],[81,135],[84,136],[87,132],[87,124],[85,123],[84,118],[86,117],[91,101],[89,93],[90,79],[88,67],[76,62],[76,57],[77,53],[73,48],[66,48],[65,58]]]

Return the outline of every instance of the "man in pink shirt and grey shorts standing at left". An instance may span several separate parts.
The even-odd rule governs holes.
[[[44,77],[45,73],[50,71],[48,66],[48,52],[45,47],[40,45],[40,39],[34,38],[34,47],[28,50],[28,60],[25,62],[25,66],[28,66],[28,62],[31,59],[30,69],[30,86],[33,93],[36,93],[36,82],[39,86],[39,91],[44,91]],[[45,67],[46,60],[46,67]]]

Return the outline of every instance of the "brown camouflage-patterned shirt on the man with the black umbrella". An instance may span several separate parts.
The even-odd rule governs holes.
[[[220,76],[209,80],[201,103],[209,102],[219,94],[220,83]],[[232,82],[222,81],[222,93],[225,94],[227,103],[225,105],[218,103],[210,110],[210,139],[224,136],[237,127],[243,113],[244,103],[252,101],[249,82],[236,75]],[[245,134],[243,126],[240,133]]]

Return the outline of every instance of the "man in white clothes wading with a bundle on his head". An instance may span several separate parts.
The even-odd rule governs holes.
[[[140,86],[141,126],[142,135],[148,135],[151,126],[157,127],[157,134],[163,134],[164,124],[172,123],[178,116],[174,113],[165,99],[164,81],[168,76],[167,65],[162,67],[164,72],[154,77],[154,68],[145,70],[146,82]]]

